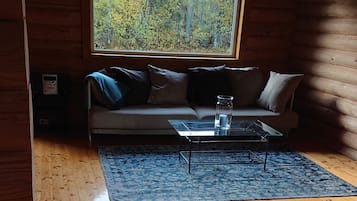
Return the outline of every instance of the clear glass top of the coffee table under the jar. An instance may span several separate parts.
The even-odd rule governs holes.
[[[229,130],[214,128],[213,120],[169,120],[180,136],[185,137],[281,137],[282,133],[259,120],[232,121]]]

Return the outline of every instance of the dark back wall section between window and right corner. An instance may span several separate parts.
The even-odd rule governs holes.
[[[238,65],[285,71],[295,21],[295,0],[246,1]]]

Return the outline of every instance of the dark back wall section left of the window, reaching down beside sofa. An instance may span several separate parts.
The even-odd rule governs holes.
[[[26,0],[31,72],[71,80],[68,127],[85,128],[80,0]]]

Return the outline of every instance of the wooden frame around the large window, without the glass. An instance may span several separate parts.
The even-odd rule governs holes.
[[[93,0],[83,1],[84,19],[86,19],[87,28],[84,27],[83,39],[87,41],[85,56],[94,57],[135,57],[135,58],[167,58],[167,59],[205,59],[205,60],[239,60],[240,46],[242,40],[242,26],[245,8],[245,0],[237,2],[237,10],[235,11],[234,21],[234,36],[232,41],[231,54],[214,54],[214,53],[175,53],[175,52],[159,52],[159,51],[128,51],[128,50],[96,50],[94,48],[94,29],[93,29]],[[87,17],[85,17],[87,16]],[[89,17],[89,18],[88,18]],[[88,20],[89,19],[89,20]],[[89,29],[89,30],[88,30]]]

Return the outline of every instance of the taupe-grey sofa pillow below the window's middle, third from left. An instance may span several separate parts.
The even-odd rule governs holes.
[[[148,103],[187,104],[188,76],[186,73],[178,73],[153,65],[148,65],[148,70],[151,80],[151,92]]]

